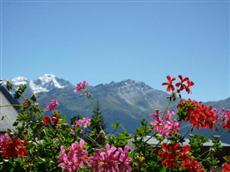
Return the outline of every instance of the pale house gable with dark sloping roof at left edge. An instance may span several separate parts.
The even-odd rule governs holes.
[[[6,129],[13,129],[13,123],[18,114],[18,108],[13,106],[19,104],[8,90],[0,85],[0,132],[5,132]]]

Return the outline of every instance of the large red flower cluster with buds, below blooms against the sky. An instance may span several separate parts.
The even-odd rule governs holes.
[[[181,100],[177,105],[178,115],[192,126],[199,128],[216,128],[218,114],[212,106],[206,106],[195,100]]]

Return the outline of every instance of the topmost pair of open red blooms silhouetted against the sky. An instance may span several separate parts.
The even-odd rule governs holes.
[[[175,77],[171,77],[168,75],[167,77],[167,82],[162,83],[162,85],[166,85],[166,91],[167,92],[174,92],[175,87],[177,88],[177,93],[180,93],[181,91],[185,90],[188,94],[191,92],[191,87],[194,85],[194,83],[188,78],[188,77],[183,77],[182,75],[179,75],[179,82],[177,82],[174,85],[174,81],[176,80]]]

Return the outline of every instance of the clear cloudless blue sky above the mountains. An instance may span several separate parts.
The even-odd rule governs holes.
[[[230,96],[229,1],[1,0],[1,77],[52,73],[91,85],[167,74],[192,98]]]

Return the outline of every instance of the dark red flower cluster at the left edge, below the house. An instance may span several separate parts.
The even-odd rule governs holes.
[[[27,154],[27,140],[11,138],[7,133],[0,137],[0,152],[4,159],[23,157]]]

